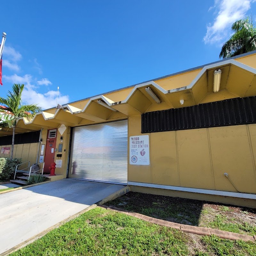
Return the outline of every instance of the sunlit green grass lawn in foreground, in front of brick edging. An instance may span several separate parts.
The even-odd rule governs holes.
[[[256,243],[187,234],[97,207],[10,255],[256,256]]]

